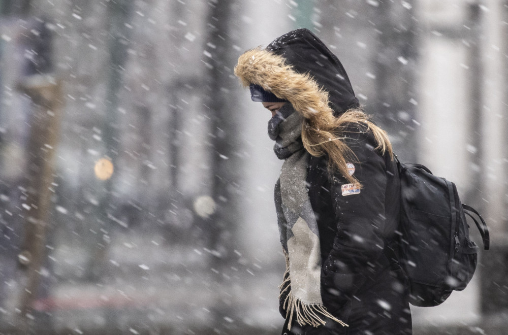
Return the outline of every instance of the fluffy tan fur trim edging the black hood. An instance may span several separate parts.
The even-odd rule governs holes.
[[[289,101],[306,119],[333,113],[327,91],[310,75],[297,73],[285,63],[284,57],[268,50],[256,48],[243,53],[235,66],[235,75],[244,87],[257,84]]]

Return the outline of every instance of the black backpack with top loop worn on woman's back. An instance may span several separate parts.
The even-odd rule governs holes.
[[[454,183],[434,176],[421,164],[397,159],[397,166],[400,225],[397,239],[388,244],[385,254],[407,276],[411,305],[437,306],[453,290],[463,290],[476,269],[479,248],[469,239],[465,214],[480,230],[485,250],[489,231],[480,214],[460,202]]]

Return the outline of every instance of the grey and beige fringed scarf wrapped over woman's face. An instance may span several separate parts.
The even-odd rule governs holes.
[[[283,159],[280,177],[275,184],[275,207],[280,242],[286,258],[283,308],[298,324],[314,327],[325,324],[324,317],[342,325],[326,311],[321,299],[321,249],[319,230],[307,190],[309,153],[301,141],[303,117],[289,103],[282,106],[268,122],[268,135],[276,141],[273,150]]]

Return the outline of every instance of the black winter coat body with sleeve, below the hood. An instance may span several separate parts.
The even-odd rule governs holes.
[[[348,182],[331,175],[327,159],[310,157],[308,192],[320,232],[321,295],[327,310],[348,327],[293,324],[287,334],[410,334],[411,315],[402,273],[391,269],[383,249],[399,221],[397,166],[382,156],[369,132],[352,132],[348,145],[358,158],[360,193],[343,195]],[[347,193],[347,191],[346,191]],[[283,297],[282,297],[283,298]],[[285,317],[285,311],[281,308]]]

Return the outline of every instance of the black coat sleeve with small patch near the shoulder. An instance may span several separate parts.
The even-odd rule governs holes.
[[[325,290],[339,300],[350,299],[375,272],[376,260],[383,255],[385,228],[385,158],[375,150],[371,133],[360,132],[348,145],[357,157],[352,162],[355,185],[340,174],[331,178],[331,197],[337,233],[322,266]]]

